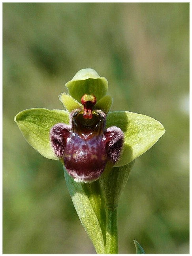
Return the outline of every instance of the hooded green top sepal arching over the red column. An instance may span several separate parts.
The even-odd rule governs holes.
[[[84,94],[94,95],[98,101],[107,94],[108,89],[107,79],[100,77],[94,69],[81,69],[65,85],[69,94],[79,102]]]

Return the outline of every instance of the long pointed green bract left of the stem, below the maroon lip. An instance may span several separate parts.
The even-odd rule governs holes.
[[[68,175],[65,168],[64,175],[66,185],[70,192],[70,196],[72,197],[79,219],[81,220],[88,237],[92,241],[96,252],[103,254],[105,252],[103,233],[92,203],[85,193],[82,184],[75,182],[73,178]]]

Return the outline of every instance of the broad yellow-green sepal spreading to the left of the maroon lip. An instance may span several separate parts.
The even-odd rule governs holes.
[[[57,123],[69,123],[69,113],[64,110],[43,108],[26,109],[19,112],[14,121],[26,141],[43,157],[57,159],[49,141],[49,131]]]

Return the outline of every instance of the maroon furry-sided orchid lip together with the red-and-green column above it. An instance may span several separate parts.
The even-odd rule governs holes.
[[[123,132],[116,126],[105,129],[105,114],[93,110],[94,96],[81,98],[83,110],[70,113],[70,125],[56,124],[50,130],[55,155],[64,160],[70,176],[78,182],[97,180],[104,171],[107,160],[113,164],[120,157]]]

